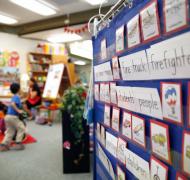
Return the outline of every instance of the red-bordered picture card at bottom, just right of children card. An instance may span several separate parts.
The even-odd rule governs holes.
[[[168,167],[153,156],[151,157],[150,160],[150,169],[151,169],[151,180],[168,179]]]

